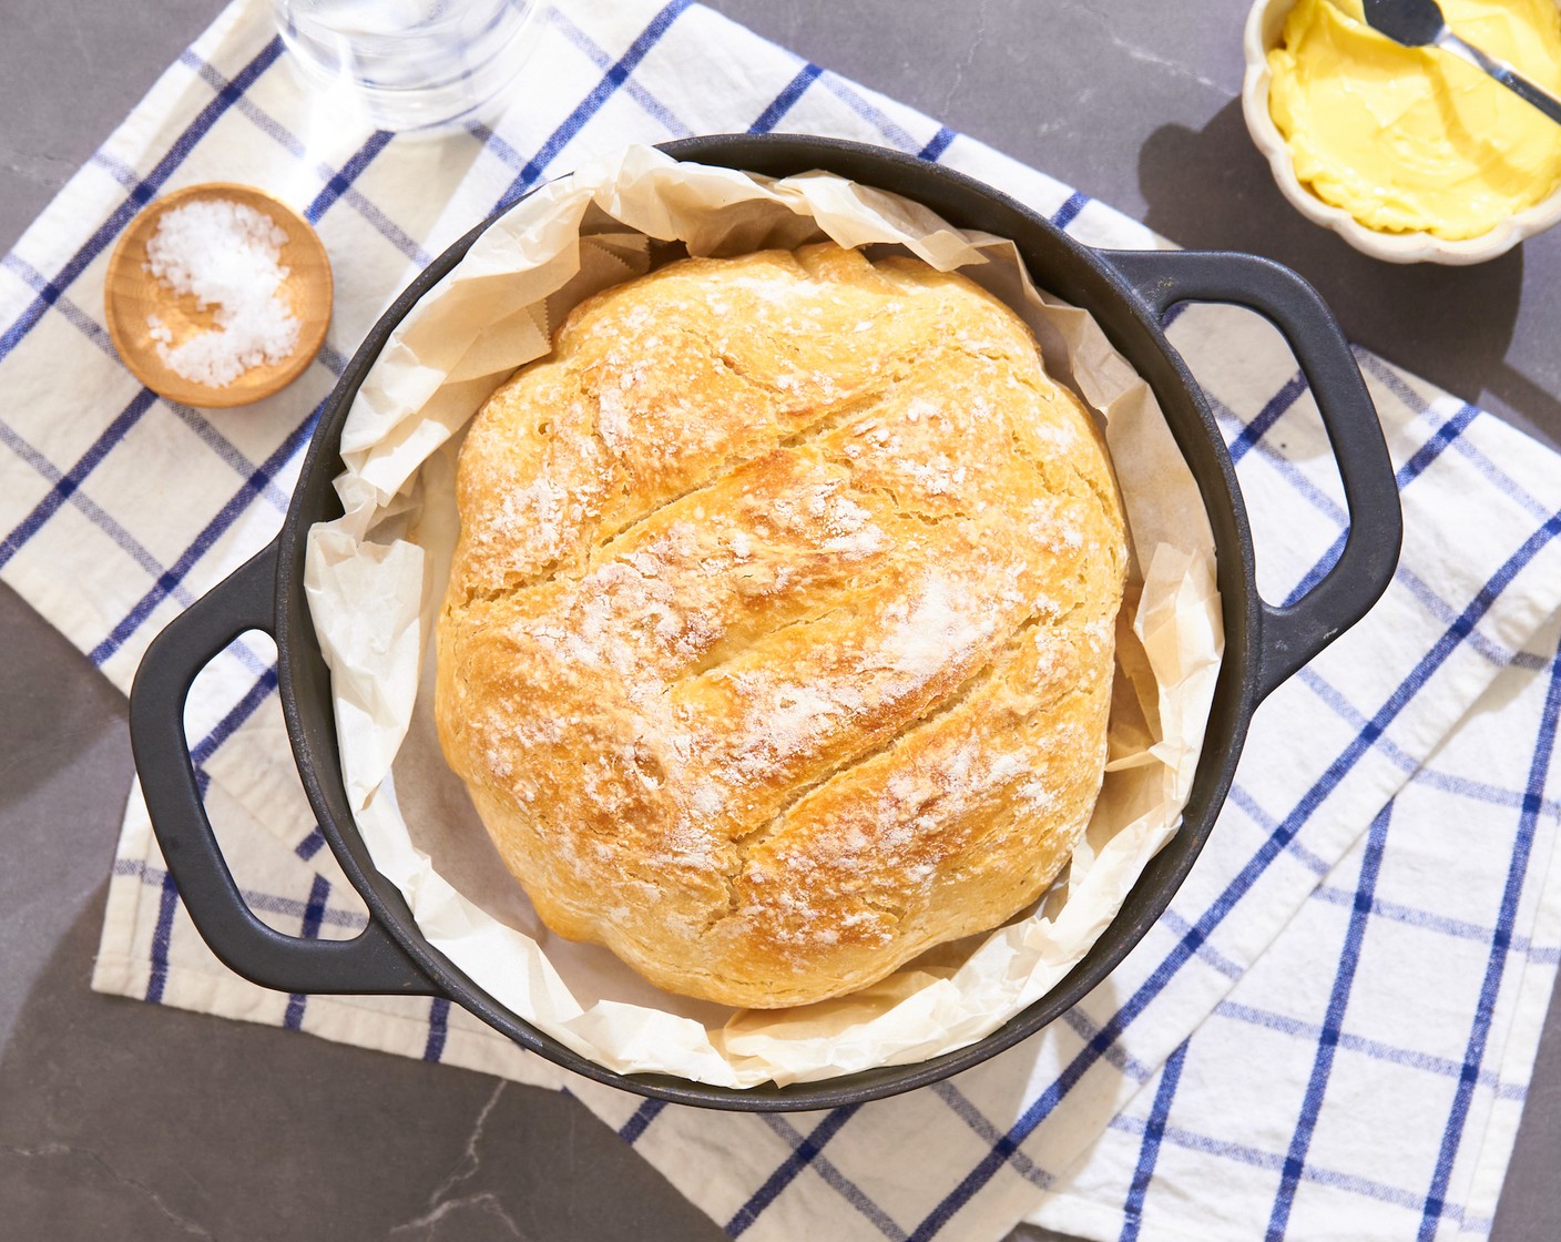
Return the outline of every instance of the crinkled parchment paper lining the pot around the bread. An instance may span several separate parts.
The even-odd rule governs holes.
[[[692,253],[898,244],[960,267],[1029,320],[1049,370],[1105,420],[1133,544],[1118,625],[1105,786],[1066,880],[983,937],[854,995],[731,1011],[668,995],[607,950],[551,936],[504,870],[432,723],[432,633],[459,528],[465,422],[581,298]],[[1219,670],[1213,537],[1149,387],[1083,311],[1037,292],[1012,242],[838,177],[770,181],[635,147],[518,203],[412,309],[359,391],[336,481],[345,516],[309,536],[306,587],[331,666],[357,825],[423,934],[562,1044],[624,1073],[745,1087],[921,1061],[971,1044],[1083,956],[1180,823]]]

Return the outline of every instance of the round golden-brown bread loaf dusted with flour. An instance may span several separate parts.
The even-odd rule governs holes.
[[[802,1005],[1068,861],[1121,505],[971,281],[824,244],[598,294],[475,419],[457,505],[439,733],[560,936]]]

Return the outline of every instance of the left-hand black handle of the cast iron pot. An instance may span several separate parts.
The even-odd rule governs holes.
[[[262,923],[244,900],[201,803],[184,737],[195,675],[247,630],[273,631],[272,544],[176,617],[147,648],[130,692],[130,742],[169,873],[223,964],[279,992],[439,995],[373,917],[351,940],[306,940]]]

